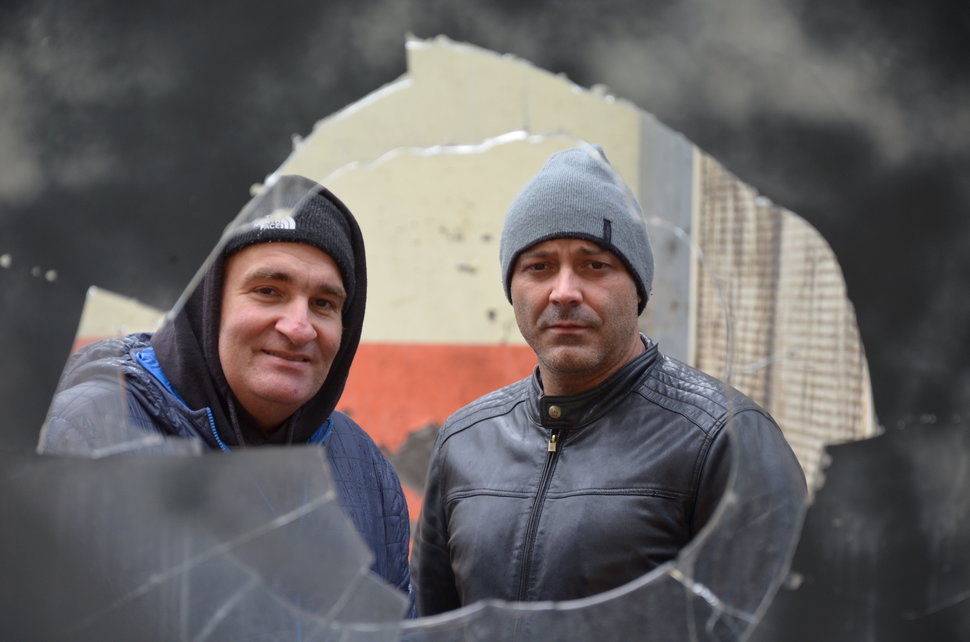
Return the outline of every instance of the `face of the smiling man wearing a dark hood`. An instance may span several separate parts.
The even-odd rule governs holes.
[[[219,360],[233,394],[271,430],[323,385],[346,299],[337,264],[302,243],[251,245],[226,261]]]

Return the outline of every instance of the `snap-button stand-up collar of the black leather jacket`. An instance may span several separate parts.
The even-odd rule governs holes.
[[[544,428],[568,429],[588,424],[608,412],[657,361],[660,354],[657,344],[644,334],[640,335],[640,339],[647,348],[644,352],[595,388],[575,395],[544,394],[537,366],[529,393],[528,407],[532,419]]]

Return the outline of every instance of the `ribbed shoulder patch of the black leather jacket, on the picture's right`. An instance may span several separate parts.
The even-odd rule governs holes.
[[[767,416],[754,401],[731,385],[666,355],[660,355],[657,367],[640,381],[637,392],[685,416],[705,432],[719,428],[730,415],[745,410]]]

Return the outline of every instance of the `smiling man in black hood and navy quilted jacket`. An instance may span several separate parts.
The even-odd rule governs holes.
[[[98,457],[170,449],[180,443],[173,437],[222,451],[322,444],[372,570],[410,593],[400,481],[335,410],[366,296],[364,243],[350,211],[317,183],[282,176],[227,228],[198,286],[157,332],[72,355],[38,451]]]

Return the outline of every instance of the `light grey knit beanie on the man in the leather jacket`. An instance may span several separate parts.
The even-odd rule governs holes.
[[[653,284],[653,252],[640,204],[599,145],[549,157],[505,215],[499,259],[505,296],[512,301],[512,268],[524,250],[551,239],[592,241],[629,270],[643,312]]]

